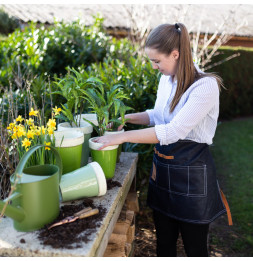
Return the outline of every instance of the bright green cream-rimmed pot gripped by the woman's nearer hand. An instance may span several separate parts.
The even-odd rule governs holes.
[[[118,145],[108,146],[103,150],[98,150],[103,144],[93,142],[92,140],[94,138],[89,140],[92,161],[98,162],[104,171],[105,177],[111,179],[115,173]]]

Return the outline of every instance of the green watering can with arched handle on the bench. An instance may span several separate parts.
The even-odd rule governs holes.
[[[39,148],[49,147],[56,158],[56,165],[45,164],[25,168],[30,156]],[[16,179],[21,176],[19,180]],[[14,220],[18,231],[33,231],[54,221],[60,211],[59,183],[62,175],[62,161],[58,151],[48,145],[35,145],[20,160],[16,171],[11,175],[11,184],[16,184],[14,193],[0,201],[0,211],[8,204],[4,215]]]

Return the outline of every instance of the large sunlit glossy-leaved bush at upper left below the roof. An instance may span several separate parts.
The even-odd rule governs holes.
[[[15,72],[22,75],[54,75],[66,73],[66,67],[102,61],[111,37],[103,30],[103,19],[94,18],[86,27],[80,20],[72,23],[55,22],[49,28],[36,28],[34,23],[23,31],[16,30],[0,42],[0,84],[14,87]],[[117,48],[116,48],[117,49]]]

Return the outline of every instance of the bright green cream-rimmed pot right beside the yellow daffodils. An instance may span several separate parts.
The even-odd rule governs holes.
[[[55,147],[62,159],[62,174],[81,167],[84,135],[77,130],[55,131]]]

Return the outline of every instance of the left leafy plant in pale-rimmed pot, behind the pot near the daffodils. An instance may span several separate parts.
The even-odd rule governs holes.
[[[81,166],[88,163],[89,158],[89,139],[93,131],[92,125],[81,121],[82,112],[87,109],[87,102],[83,98],[82,92],[90,86],[96,86],[101,81],[95,77],[88,77],[86,72],[80,73],[74,68],[68,67],[69,73],[63,78],[56,78],[55,84],[60,90],[52,92],[65,98],[66,103],[62,104],[62,114],[58,119],[64,122],[58,124],[58,131],[69,131],[74,128],[84,134],[82,145]]]

